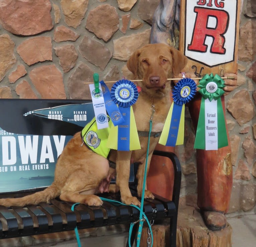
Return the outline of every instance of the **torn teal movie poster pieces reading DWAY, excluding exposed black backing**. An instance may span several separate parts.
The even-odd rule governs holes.
[[[33,115],[46,118],[44,121],[57,120],[83,127],[94,117],[94,111],[92,104],[87,103],[33,109],[22,115],[24,118]],[[49,186],[54,179],[57,159],[72,137],[65,133],[17,134],[0,127],[0,193]]]

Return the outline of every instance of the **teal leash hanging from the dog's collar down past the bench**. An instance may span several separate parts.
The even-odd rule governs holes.
[[[147,178],[147,165],[148,165],[148,153],[149,153],[150,134],[151,134],[151,131],[152,131],[152,119],[153,119],[153,115],[155,113],[155,106],[153,105],[153,103],[151,104],[151,108],[150,109],[152,111],[152,114],[151,114],[151,118],[149,120],[148,146],[147,146],[147,156],[146,156],[144,178],[143,178],[143,188],[142,188],[142,194],[141,194],[141,205],[140,205],[140,208],[138,206],[135,206],[135,205],[132,205],[132,204],[129,205],[129,206],[137,208],[140,211],[140,217],[139,217],[139,220],[137,220],[135,222],[132,222],[131,225],[130,225],[129,240],[128,240],[129,241],[129,247],[131,247],[131,233],[132,233],[133,226],[135,224],[137,224],[138,222],[140,222],[139,229],[138,229],[138,236],[137,236],[137,247],[139,247],[144,221],[147,221],[147,224],[148,224],[148,227],[149,227],[149,230],[150,230],[150,233],[151,233],[151,239],[152,239],[151,247],[153,246],[153,233],[152,233],[151,224],[148,221],[148,218],[147,218],[146,214],[143,212],[145,186],[146,186],[146,178]],[[100,197],[100,198],[101,198],[102,201],[119,203],[121,205],[127,205],[127,204],[124,204],[122,202],[118,202],[118,201],[115,201],[115,200],[111,200],[111,199],[107,199],[107,198],[103,198],[103,197]],[[78,205],[78,204],[79,204],[79,202],[72,205],[71,210],[73,212],[74,212],[75,206]],[[77,227],[75,228],[75,234],[76,234],[76,238],[77,238],[78,247],[81,247],[81,242],[80,242],[80,237],[79,237],[79,233],[78,233]]]

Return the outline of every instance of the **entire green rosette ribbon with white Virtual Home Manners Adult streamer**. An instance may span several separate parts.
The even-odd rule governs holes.
[[[225,93],[224,80],[219,75],[205,75],[198,87],[202,95],[195,149],[217,150],[228,146],[226,122],[221,103]]]

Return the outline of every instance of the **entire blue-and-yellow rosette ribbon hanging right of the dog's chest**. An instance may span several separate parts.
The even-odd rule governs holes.
[[[197,85],[190,78],[178,81],[172,90],[173,102],[165,120],[159,143],[174,147],[184,142],[185,104],[195,96]]]

